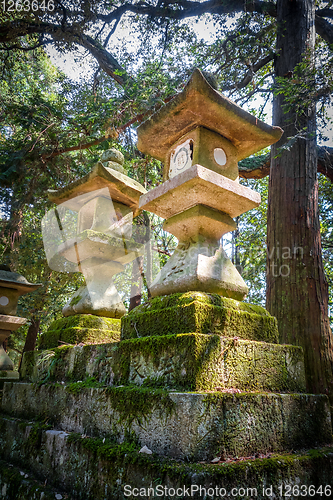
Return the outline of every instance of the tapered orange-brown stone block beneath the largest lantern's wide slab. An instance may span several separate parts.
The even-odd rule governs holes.
[[[195,205],[170,217],[163,224],[164,231],[182,241],[197,239],[199,234],[208,239],[219,240],[225,233],[236,228],[236,222],[229,215],[204,205]]]

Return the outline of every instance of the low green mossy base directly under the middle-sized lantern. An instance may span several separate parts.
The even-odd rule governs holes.
[[[61,344],[102,344],[120,340],[120,319],[93,314],[77,314],[51,323],[41,336],[39,349],[51,349]]]

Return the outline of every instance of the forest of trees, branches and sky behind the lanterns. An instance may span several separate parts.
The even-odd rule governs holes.
[[[241,182],[263,201],[238,219],[231,243],[224,244],[231,245],[231,258],[250,288],[246,300],[266,304],[277,316],[282,342],[303,345],[308,389],[331,395],[333,161],[324,144],[332,139],[333,2],[0,4],[2,263],[42,284],[20,300],[18,314],[29,322],[11,336],[12,355],[20,356],[24,344],[25,350],[35,347],[82,284],[81,275],[47,265],[41,237],[41,220],[52,208],[47,190],[82,177],[110,147],[123,152],[129,176],[147,189],[158,185],[162,165],[137,150],[135,129],[198,67],[219,91],[264,121],[273,103],[273,125],[285,130],[271,153],[240,162]],[[205,23],[211,39],[196,28]],[[119,37],[123,27],[128,35]],[[48,47],[62,59],[70,54],[82,78],[57,69]],[[176,242],[160,220],[151,218],[150,225],[163,265]],[[301,255],[295,248],[302,248]],[[118,289],[130,307],[130,295],[135,303],[140,295],[147,298],[145,280],[133,280],[131,269],[118,278]]]

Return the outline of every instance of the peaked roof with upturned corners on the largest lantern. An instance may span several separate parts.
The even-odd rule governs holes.
[[[232,142],[238,160],[273,144],[283,133],[224,97],[195,69],[184,90],[138,127],[138,148],[164,161],[170,147],[200,125]]]

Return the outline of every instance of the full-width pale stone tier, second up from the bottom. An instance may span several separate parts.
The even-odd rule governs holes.
[[[324,395],[179,393],[89,387],[89,381],[67,386],[8,382],[2,412],[26,419],[43,416],[60,430],[112,436],[118,442],[132,434],[141,446],[179,459],[248,456],[331,441]]]

